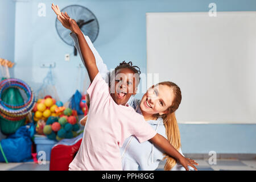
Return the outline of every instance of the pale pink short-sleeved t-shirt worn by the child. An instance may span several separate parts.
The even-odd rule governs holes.
[[[131,106],[117,105],[100,73],[90,84],[90,109],[82,143],[69,170],[122,170],[119,147],[135,135],[144,142],[156,131]]]

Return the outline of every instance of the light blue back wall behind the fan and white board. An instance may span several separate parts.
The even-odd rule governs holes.
[[[39,17],[38,3],[47,5],[46,17]],[[73,49],[65,44],[55,30],[55,14],[51,2],[62,9],[71,4],[88,7],[97,16],[100,34],[94,43],[109,68],[122,60],[131,60],[146,72],[146,13],[208,11],[211,2],[217,11],[256,11],[256,1],[238,0],[88,0],[88,1],[27,1],[16,2],[15,15],[15,77],[39,88],[47,69],[41,63],[55,62],[56,88],[62,101],[75,92],[80,63],[65,53]],[[2,42],[2,41],[1,41]],[[138,94],[138,98],[142,94]],[[256,153],[255,125],[184,125],[180,124],[183,152]]]

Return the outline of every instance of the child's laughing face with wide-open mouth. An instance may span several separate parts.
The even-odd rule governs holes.
[[[134,71],[129,68],[118,69],[115,73],[115,84],[110,84],[110,92],[114,90],[114,93],[111,92],[111,96],[118,105],[126,105],[131,95],[136,94],[137,79],[134,75]]]

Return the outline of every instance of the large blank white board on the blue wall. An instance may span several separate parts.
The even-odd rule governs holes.
[[[147,73],[180,86],[179,123],[256,123],[256,12],[147,13]]]

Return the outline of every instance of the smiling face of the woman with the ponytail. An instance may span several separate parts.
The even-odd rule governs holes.
[[[174,97],[174,91],[170,86],[152,86],[142,97],[140,105],[142,114],[168,113],[167,109],[172,105]]]

